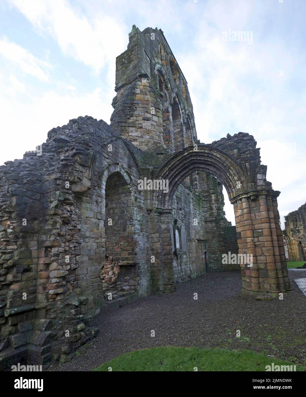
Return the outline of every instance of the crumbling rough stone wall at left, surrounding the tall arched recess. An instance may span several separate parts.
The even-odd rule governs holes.
[[[12,360],[69,359],[96,332],[90,328],[93,316],[128,301],[123,294],[105,302],[100,278],[107,177],[121,172],[133,191],[139,178],[132,144],[119,139],[112,152],[105,146],[116,138],[103,121],[73,119],[48,133],[41,156],[26,154],[0,169],[2,368]],[[132,232],[138,251],[133,277],[138,296],[145,296],[150,270],[140,194],[135,208],[142,230]]]

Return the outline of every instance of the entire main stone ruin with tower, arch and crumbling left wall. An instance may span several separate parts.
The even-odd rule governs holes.
[[[200,143],[161,30],[133,26],[115,91],[110,125],[72,119],[40,153],[0,167],[1,370],[70,360],[98,332],[98,314],[208,270],[240,269],[244,296],[290,290],[279,192],[256,141],[239,132]],[[251,267],[222,264],[238,250]]]

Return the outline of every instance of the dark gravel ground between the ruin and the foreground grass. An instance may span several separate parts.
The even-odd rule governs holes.
[[[176,293],[128,304],[96,317],[93,326],[101,330],[92,344],[48,371],[88,371],[122,353],[165,345],[251,349],[305,362],[306,296],[293,279],[306,278],[306,270],[289,271],[289,276],[293,291],[283,301],[241,298],[240,272],[221,272],[179,284]]]

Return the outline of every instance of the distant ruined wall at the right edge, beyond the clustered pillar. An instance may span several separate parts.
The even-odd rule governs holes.
[[[285,216],[285,230],[289,260],[306,260],[306,204]]]

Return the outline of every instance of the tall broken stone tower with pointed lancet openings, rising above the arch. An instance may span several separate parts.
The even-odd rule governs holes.
[[[197,141],[187,81],[161,29],[135,25],[116,59],[111,127],[140,150],[180,150]]]

